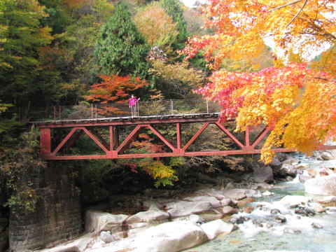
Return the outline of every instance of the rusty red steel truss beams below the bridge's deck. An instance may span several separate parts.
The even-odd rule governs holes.
[[[154,125],[158,124],[172,124],[176,127],[176,143],[171,143],[167,137],[162,135]],[[181,131],[182,123],[204,123],[200,130],[198,130],[193,137],[188,141],[188,143],[183,146],[181,141]],[[223,131],[230,139],[232,139],[235,144],[239,147],[239,150],[231,151],[187,151],[191,144],[204,132],[204,130],[210,125],[215,124]],[[119,129],[123,126],[134,125],[135,128],[127,135],[125,140],[119,144]],[[98,122],[92,121],[92,123],[61,123],[61,124],[45,124],[39,123],[37,125],[40,130],[41,137],[41,157],[45,160],[91,160],[91,159],[114,159],[114,158],[159,158],[159,157],[191,157],[191,156],[202,156],[202,155],[241,155],[241,154],[258,154],[260,149],[256,149],[258,143],[266,136],[268,132],[272,129],[265,127],[258,137],[250,143],[250,128],[246,128],[244,144],[241,143],[224,125],[218,122],[218,117],[212,118],[163,118],[155,120],[146,120],[146,118],[141,120],[130,120],[130,121],[120,121],[120,122]],[[94,130],[94,127],[109,127],[109,143],[105,141],[98,133]],[[57,128],[70,128],[69,134],[62,139],[62,141],[57,145],[54,151],[51,151],[51,130]],[[130,148],[133,141],[137,139],[141,130],[148,128],[151,130],[162,142],[172,150],[172,152],[164,153],[132,153],[125,154],[124,151]],[[90,129],[90,130],[89,130]],[[80,137],[80,134],[87,134],[99,148],[105,153],[104,155],[60,155],[59,151],[63,146],[69,148],[76,139]],[[321,146],[320,149],[333,149],[336,146]],[[291,152],[294,149],[286,148],[274,148],[275,152]]]

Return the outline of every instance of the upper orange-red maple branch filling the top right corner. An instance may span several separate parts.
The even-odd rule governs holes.
[[[209,0],[202,8],[206,27],[214,35],[194,37],[184,49],[190,57],[199,50],[212,66],[221,66],[226,57],[236,60],[256,57],[265,38],[272,37],[275,52],[290,48],[300,55],[336,42],[334,1]]]

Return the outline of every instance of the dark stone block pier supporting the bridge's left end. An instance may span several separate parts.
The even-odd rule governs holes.
[[[10,251],[34,251],[82,232],[79,193],[71,172],[62,162],[49,162],[29,174],[38,200],[34,211],[10,212]]]

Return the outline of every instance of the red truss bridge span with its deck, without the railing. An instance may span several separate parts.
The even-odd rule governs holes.
[[[40,130],[41,139],[41,157],[45,160],[90,160],[90,159],[114,159],[114,158],[159,158],[159,157],[181,157],[181,156],[200,156],[200,155],[241,155],[260,153],[260,142],[272,130],[269,127],[261,127],[256,137],[250,139],[251,129],[246,128],[244,137],[238,139],[225,125],[218,121],[219,113],[192,113],[178,115],[162,116],[121,116],[109,118],[88,118],[88,119],[66,119],[66,120],[48,120],[34,122],[33,124]],[[233,121],[233,120],[230,120]],[[181,124],[202,123],[202,127],[195,134],[192,134],[186,144],[182,142]],[[169,141],[169,136],[165,136],[155,127],[156,125],[170,124],[175,129],[175,140]],[[228,138],[237,146],[235,150],[219,151],[188,151],[188,148],[195,140],[207,129],[209,125],[216,125],[218,129],[226,134]],[[119,136],[122,127],[134,126],[131,132],[128,132],[125,139]],[[105,135],[99,132],[97,128],[103,127],[107,130]],[[147,130],[160,139],[167,151],[160,153],[137,153],[136,148],[133,151],[127,151],[134,148],[132,145],[137,140],[141,131]],[[172,130],[172,127],[171,127]],[[56,134],[54,134],[56,131]],[[58,132],[58,133],[57,133]],[[67,133],[65,133],[67,132]],[[125,131],[124,131],[125,132]],[[64,135],[65,133],[65,135]],[[71,146],[85,135],[92,139],[100,149],[102,155],[92,153],[92,155],[73,155],[69,150]],[[107,134],[107,136],[106,136]],[[172,134],[172,132],[170,132]],[[190,134],[190,132],[188,132]],[[58,137],[57,137],[58,136]],[[61,137],[62,136],[62,137]],[[321,146],[321,149],[331,149],[335,146]],[[190,148],[189,148],[190,149]],[[135,151],[135,152],[134,152]],[[274,148],[274,152],[290,152],[294,149]]]

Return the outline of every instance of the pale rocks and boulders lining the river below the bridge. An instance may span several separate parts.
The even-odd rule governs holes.
[[[333,157],[336,152],[318,153],[319,157]],[[287,195],[278,202],[253,204],[260,197],[272,195],[269,192],[274,177],[283,180],[296,176],[305,181],[308,193],[329,196],[314,200],[312,197]],[[214,182],[213,178],[202,177]],[[65,251],[182,251],[192,248],[218,235],[227,235],[237,228],[251,226],[265,230],[279,230],[297,234],[302,230],[288,223],[300,218],[334,211],[336,174],[333,169],[309,170],[309,165],[295,158],[279,161],[274,159],[266,167],[255,167],[252,174],[246,174],[242,183],[218,179],[214,183],[181,197],[153,197],[141,202],[145,211],[136,214],[111,214],[88,210],[85,214],[85,235],[65,244],[43,250],[44,252]],[[268,182],[268,183],[267,183]],[[327,192],[327,193],[325,193]],[[262,213],[262,215],[260,215]],[[260,218],[262,216],[262,218]],[[306,222],[307,222],[306,220]],[[308,221],[311,228],[323,226]]]

